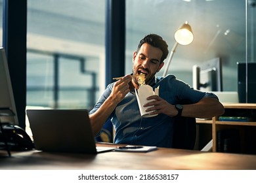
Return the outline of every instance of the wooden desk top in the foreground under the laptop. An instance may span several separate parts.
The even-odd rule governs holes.
[[[114,146],[113,144],[98,145]],[[159,148],[147,153],[104,152],[97,155],[32,150],[29,152],[12,152],[12,156],[9,158],[7,152],[0,151],[0,169],[249,170],[256,169],[256,156]]]

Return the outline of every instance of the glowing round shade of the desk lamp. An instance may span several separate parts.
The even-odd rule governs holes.
[[[177,41],[181,45],[188,45],[190,44],[193,39],[194,35],[192,33],[192,29],[188,22],[185,22],[174,34],[175,41]]]

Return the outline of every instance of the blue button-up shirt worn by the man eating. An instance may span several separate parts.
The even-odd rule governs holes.
[[[114,83],[107,86],[89,114],[93,114],[104,103],[112,92],[113,86]],[[174,75],[167,75],[164,78],[158,76],[152,80],[150,86],[153,89],[159,86],[159,96],[172,105],[184,100],[197,103],[203,97],[217,98],[213,93],[194,90]],[[109,120],[112,121],[116,130],[115,143],[172,147],[173,118],[165,114],[142,118],[134,91],[127,93],[109,116]]]

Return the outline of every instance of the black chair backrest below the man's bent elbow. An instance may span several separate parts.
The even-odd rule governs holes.
[[[194,150],[196,143],[196,118],[175,117],[173,148]]]

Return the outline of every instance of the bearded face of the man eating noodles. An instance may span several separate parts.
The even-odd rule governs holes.
[[[143,73],[146,77],[146,84],[154,78],[156,73],[163,67],[163,62],[160,64],[163,52],[160,48],[151,46],[148,43],[142,44],[139,52],[133,53],[133,75]],[[138,85],[137,77],[133,78],[133,82]]]

